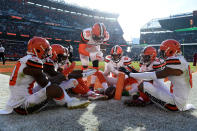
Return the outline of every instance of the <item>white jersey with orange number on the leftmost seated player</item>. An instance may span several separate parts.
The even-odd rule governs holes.
[[[23,69],[27,67],[27,65],[33,68],[43,68],[42,61],[36,56],[27,55],[17,61],[10,77],[10,98],[7,102],[7,107],[18,107],[24,102],[24,99],[27,96],[33,94],[32,89],[34,87],[35,79],[32,76],[23,73]]]

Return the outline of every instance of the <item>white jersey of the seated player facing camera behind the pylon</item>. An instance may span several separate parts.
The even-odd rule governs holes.
[[[111,55],[108,55],[105,57],[105,70],[104,70],[104,75],[108,76],[110,73],[114,75],[118,75],[119,71],[118,69],[120,67],[125,67],[127,65],[131,64],[131,58],[127,56],[123,56],[118,63],[115,63],[111,59]]]

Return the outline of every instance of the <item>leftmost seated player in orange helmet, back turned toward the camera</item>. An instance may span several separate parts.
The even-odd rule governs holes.
[[[13,111],[22,115],[33,113],[43,108],[48,99],[56,99],[69,106],[72,98],[67,97],[64,89],[51,83],[43,73],[42,60],[51,55],[49,42],[44,38],[34,37],[28,42],[27,53],[16,63],[9,82],[10,98],[0,114],[10,114]],[[42,89],[33,93],[35,82]],[[89,102],[80,104],[85,107]]]

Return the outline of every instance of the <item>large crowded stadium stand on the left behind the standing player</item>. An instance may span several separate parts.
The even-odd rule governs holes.
[[[82,29],[103,22],[110,33],[107,50],[126,44],[118,14],[69,5],[59,0],[1,0],[0,40],[5,41],[6,57],[18,59],[25,54],[27,41],[45,37],[51,44],[71,44],[78,52]],[[74,58],[79,59],[78,53]]]

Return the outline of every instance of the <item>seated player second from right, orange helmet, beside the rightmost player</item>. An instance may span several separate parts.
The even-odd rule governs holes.
[[[143,49],[143,51],[140,54],[140,70],[139,72],[153,72],[153,71],[159,71],[163,70],[165,68],[165,61],[161,58],[157,58],[157,51],[154,47],[148,46]],[[162,86],[164,80],[163,79],[157,79],[157,80],[143,80],[140,81],[140,83],[143,82],[150,82],[154,86]],[[133,96],[131,99],[126,100],[124,104],[127,106],[145,106],[146,104],[150,103],[150,99],[146,94],[144,94],[141,91],[133,93]]]

